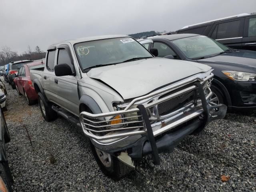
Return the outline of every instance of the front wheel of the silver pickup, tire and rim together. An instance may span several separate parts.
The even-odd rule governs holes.
[[[115,156],[99,150],[90,142],[92,154],[102,172],[114,180],[119,180],[132,171],[132,168],[123,164]]]

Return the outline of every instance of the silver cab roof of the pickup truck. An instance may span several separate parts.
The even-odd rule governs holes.
[[[92,36],[92,37],[83,37],[83,38],[77,38],[77,39],[71,39],[71,40],[65,40],[62,42],[58,42],[55,44],[52,44],[51,46],[54,46],[56,44],[69,42],[71,44],[76,44],[80,42],[86,42],[86,41],[94,41],[94,40],[101,40],[101,39],[111,39],[111,38],[119,38],[119,37],[130,37],[128,35],[102,35],[102,36]]]

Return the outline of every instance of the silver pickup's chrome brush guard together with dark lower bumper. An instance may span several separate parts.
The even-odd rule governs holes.
[[[154,162],[159,164],[159,153],[172,151],[185,136],[200,132],[208,122],[224,118],[226,115],[225,105],[209,106],[208,104],[212,94],[209,88],[212,76],[213,74],[208,74],[204,78],[192,76],[147,96],[136,98],[124,110],[102,114],[82,112],[80,124],[84,133],[100,150],[110,154],[127,151],[132,158],[152,154]],[[185,87],[185,85],[189,86]],[[205,92],[206,88],[209,90],[208,94]],[[173,98],[180,99],[182,95],[191,92],[193,92],[192,102],[164,116],[164,119],[152,122],[150,116],[152,107]],[[158,97],[157,100],[146,104],[134,105],[162,95],[164,97]]]

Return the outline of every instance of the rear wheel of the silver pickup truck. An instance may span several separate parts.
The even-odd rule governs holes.
[[[41,102],[42,101],[42,102]],[[52,103],[47,102],[41,92],[38,93],[38,104],[41,110],[41,113],[46,121],[55,120],[58,116],[57,113],[52,110]],[[43,108],[42,108],[43,105]]]

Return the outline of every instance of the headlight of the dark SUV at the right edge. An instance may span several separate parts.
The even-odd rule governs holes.
[[[221,71],[221,72],[232,80],[256,82],[255,73],[239,72],[239,71]]]

